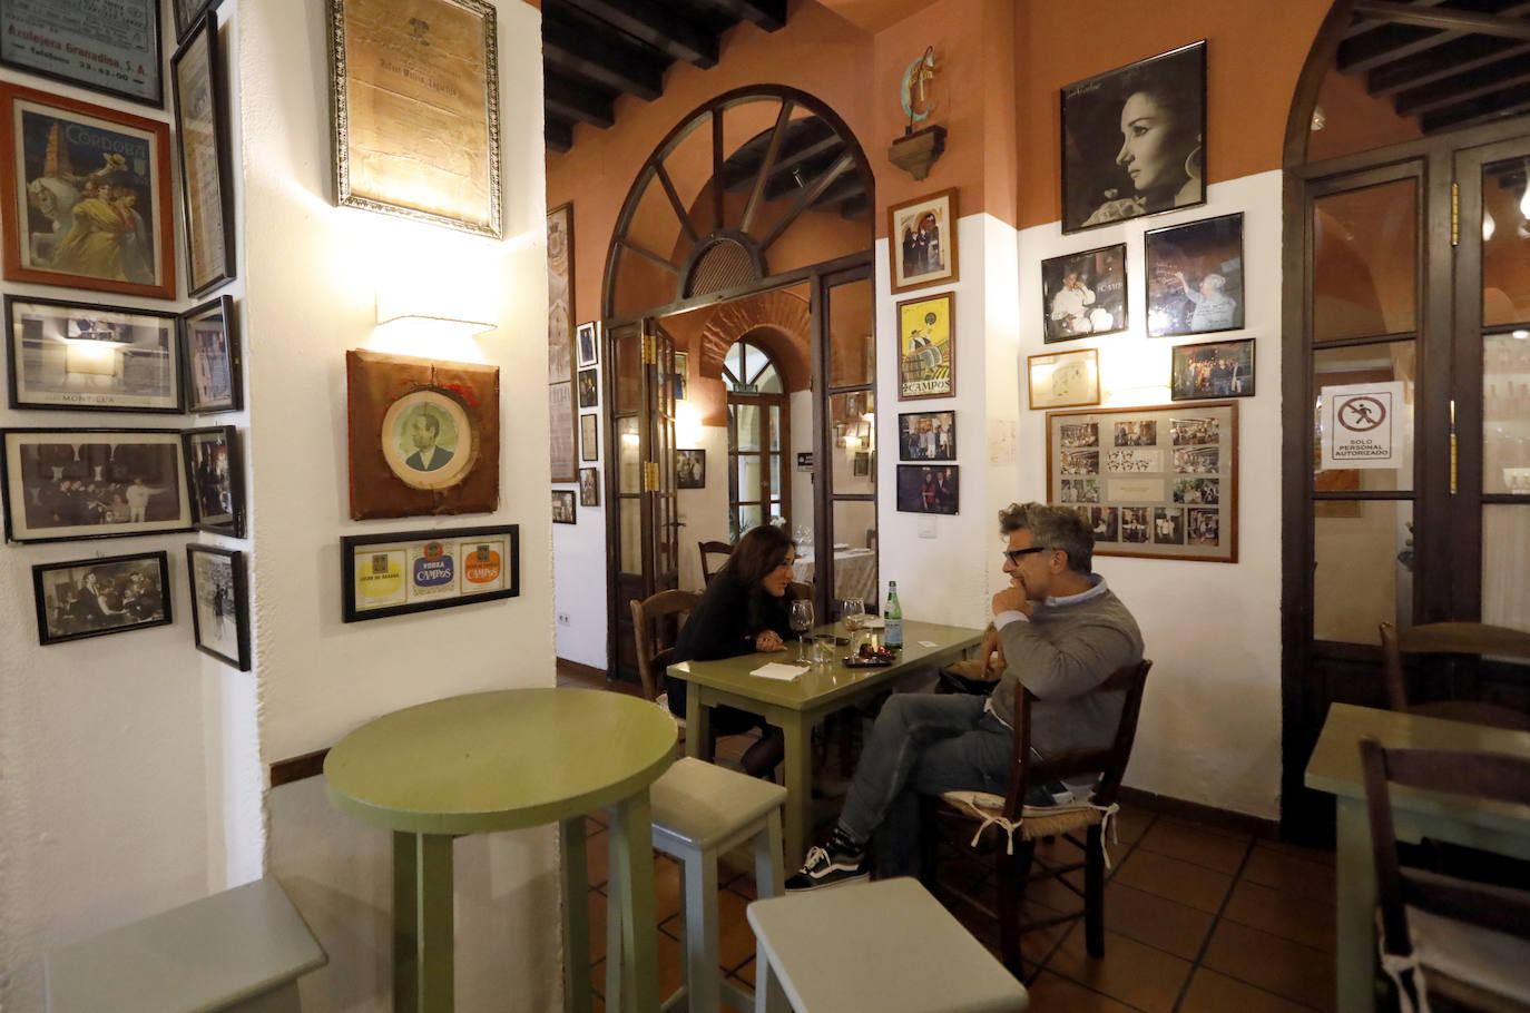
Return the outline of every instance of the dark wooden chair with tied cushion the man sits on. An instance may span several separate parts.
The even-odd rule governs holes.
[[[1089,956],[1105,956],[1105,829],[1115,813],[1115,796],[1126,773],[1137,738],[1137,716],[1141,712],[1143,687],[1152,661],[1140,661],[1114,672],[1091,693],[1121,693],[1121,718],[1114,741],[1097,750],[1077,750],[1050,757],[1043,762],[1022,762],[1031,754],[1031,704],[1036,698],[1027,690],[1014,699],[1014,745],[1011,751],[1010,785],[1004,797],[984,791],[947,791],[938,799],[929,799],[924,813],[924,868],[926,886],[938,897],[959,900],[999,924],[999,956],[1016,975],[1021,975],[1021,935],[1031,929],[1043,929],[1083,917],[1085,946]],[[1086,802],[1059,806],[1027,806],[1025,794],[1033,785],[1054,780],[1079,780],[1082,776],[1099,776],[1094,794]],[[988,831],[990,825],[998,832]],[[998,904],[991,909],[978,897],[936,878],[939,834],[946,829],[964,837],[973,848],[991,848],[994,858]],[[1085,840],[1074,837],[1085,834]],[[1065,837],[1083,851],[1083,862],[1050,865],[1036,857],[1036,842],[1043,837]],[[1031,869],[1040,866],[1033,877]],[[1083,888],[1066,878],[1066,874],[1083,871]],[[1077,910],[1021,923],[1021,904],[1025,900],[1025,883],[1030,878],[1056,878],[1062,886],[1083,900]]]

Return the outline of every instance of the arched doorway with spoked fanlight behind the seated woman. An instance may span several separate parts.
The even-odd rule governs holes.
[[[831,614],[834,546],[849,542],[838,528],[854,528],[855,543],[872,551],[861,543],[875,539],[875,468],[835,441],[832,427],[851,407],[858,416],[875,410],[874,207],[871,167],[854,135],[828,106],[783,86],[705,103],[640,167],[617,219],[601,295],[614,451],[606,474],[612,672],[633,664],[627,603],[678,586],[693,569],[682,557],[687,546],[730,534],[728,499],[716,497],[724,508],[713,517],[710,497],[676,490],[675,450],[688,447],[675,433],[676,422],[682,432],[727,425],[724,352],[751,327],[779,335],[782,349],[771,350],[785,352],[789,404],[779,409],[796,418],[776,432],[794,436],[773,464],[785,470],[791,462],[799,490],[788,503],[780,493],[789,477],[773,485],[782,510],[760,506],[759,519],[789,517],[794,529],[809,531],[809,548],[822,549],[820,615]],[[672,381],[676,360],[687,370],[679,384]],[[874,424],[869,418],[868,430]],[[725,458],[727,480],[716,471],[705,479],[719,488],[757,479],[725,447],[688,461]],[[693,467],[688,476],[692,488]],[[713,520],[722,528],[707,534]]]

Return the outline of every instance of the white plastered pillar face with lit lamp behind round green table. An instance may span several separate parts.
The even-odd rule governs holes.
[[[419,701],[554,682],[545,376],[546,240],[539,138],[539,14],[500,0],[503,242],[337,208],[330,197],[323,5],[242,11],[246,278],[254,514],[256,678],[262,761],[332,745]],[[375,291],[435,265],[494,278],[499,329],[476,340],[393,344]],[[353,347],[500,367],[500,508],[465,517],[349,520],[344,352]],[[513,522],[519,598],[340,621],[341,534]],[[335,816],[320,780],[269,793],[269,871],[320,935],[329,966],[303,979],[306,1008],[389,1008],[387,834]],[[552,831],[457,843],[462,1008],[546,1010],[558,992]]]

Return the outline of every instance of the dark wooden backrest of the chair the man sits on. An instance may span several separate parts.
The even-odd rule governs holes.
[[[1099,774],[1094,790],[1097,805],[1115,802],[1126,774],[1126,762],[1132,757],[1132,742],[1137,739],[1137,719],[1143,707],[1143,689],[1148,686],[1148,670],[1152,661],[1143,658],[1112,672],[1103,682],[1089,690],[1094,693],[1125,693],[1121,718],[1115,725],[1115,738],[1108,747],[1095,750],[1073,750],[1042,762],[1030,761],[1031,754],[1031,704],[1036,696],[1030,690],[1014,695],[1014,747],[1010,756],[1010,790],[1005,793],[1004,816],[1019,820],[1025,808],[1025,793],[1031,785],[1062,780],[1077,774]]]

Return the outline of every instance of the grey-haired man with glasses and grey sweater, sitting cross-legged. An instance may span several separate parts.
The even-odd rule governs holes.
[[[1089,571],[1094,533],[1079,513],[1043,503],[999,511],[1010,586],[993,595],[993,629],[984,658],[1001,670],[991,696],[897,693],[866,741],[845,808],[828,843],[808,851],[788,891],[918,871],[920,796],[942,791],[1004,794],[1010,780],[1014,695],[1037,696],[1031,751],[1054,756],[1109,745],[1121,695],[1089,696],[1117,669],[1143,656],[1143,638],[1121,600]],[[1034,790],[1030,805],[1051,805]]]

